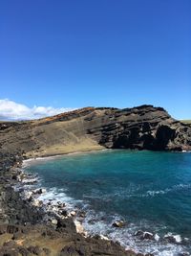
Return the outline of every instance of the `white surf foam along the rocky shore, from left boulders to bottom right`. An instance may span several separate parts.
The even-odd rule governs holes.
[[[181,187],[181,186],[179,186]],[[86,197],[85,197],[86,198]],[[96,197],[97,198],[97,197]],[[153,230],[159,232],[162,228],[167,232],[165,226],[152,226],[149,221],[142,220],[139,223],[128,223],[125,228],[114,228],[112,223],[117,220],[121,220],[122,216],[117,214],[108,215],[105,212],[96,212],[91,206],[82,200],[76,200],[67,196],[67,190],[52,188],[47,193],[40,195],[38,199],[44,201],[44,203],[52,200],[53,203],[57,201],[65,202],[67,208],[73,210],[78,204],[81,210],[86,212],[86,218],[82,221],[84,230],[89,235],[99,235],[106,237],[115,242],[119,242],[127,250],[131,249],[139,253],[151,253],[157,256],[176,256],[180,255],[186,248],[182,244],[167,244],[158,243],[156,241],[142,241],[135,237],[135,232],[138,229]],[[76,208],[75,208],[76,209]],[[154,230],[155,229],[155,230]],[[165,232],[165,233],[166,233]]]

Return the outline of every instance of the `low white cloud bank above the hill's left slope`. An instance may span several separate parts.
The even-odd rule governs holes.
[[[73,110],[73,108],[54,108],[53,106],[28,107],[8,99],[0,100],[0,120],[30,120]]]

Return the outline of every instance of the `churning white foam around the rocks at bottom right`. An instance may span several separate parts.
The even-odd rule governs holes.
[[[115,242],[119,242],[127,250],[134,250],[137,253],[153,254],[158,256],[177,256],[182,254],[186,250],[182,244],[167,244],[159,243],[156,241],[143,241],[139,240],[135,233],[141,227],[145,230],[151,229],[151,223],[144,221],[141,223],[129,223],[125,228],[114,228],[112,223],[117,220],[121,220],[118,215],[108,216],[105,221],[106,214],[104,212],[96,213],[91,210],[87,212],[86,219],[82,222],[84,229],[91,235],[99,235],[107,237]],[[158,227],[159,228],[159,227]],[[162,227],[160,227],[161,229]],[[163,227],[164,229],[166,227]],[[157,232],[158,230],[156,230]]]

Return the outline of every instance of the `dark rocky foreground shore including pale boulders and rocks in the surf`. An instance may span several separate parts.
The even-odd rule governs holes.
[[[50,199],[44,203],[39,197],[46,195],[46,190],[33,188],[32,184],[38,183],[38,177],[23,172],[23,157],[10,154],[1,156],[4,169],[1,169],[0,176],[0,255],[155,255],[138,253],[133,248],[125,250],[119,243],[104,236],[91,237],[81,224],[85,212],[69,210],[66,203],[61,201],[53,202]],[[123,228],[125,224],[124,221],[115,221],[113,226]],[[135,237],[147,242],[158,243],[162,239],[170,244],[189,243],[171,233],[160,238],[158,234],[138,230]],[[57,244],[55,247],[53,241]],[[189,253],[179,255],[187,256]]]

